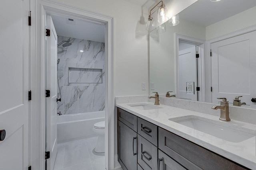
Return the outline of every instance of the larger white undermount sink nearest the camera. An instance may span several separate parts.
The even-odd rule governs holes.
[[[234,143],[255,137],[255,131],[251,129],[194,115],[170,118],[169,120]]]

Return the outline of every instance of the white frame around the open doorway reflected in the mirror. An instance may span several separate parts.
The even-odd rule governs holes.
[[[205,74],[204,74],[204,56],[205,56],[205,44],[206,42],[202,39],[198,38],[193,38],[185,35],[181,35],[178,33],[174,33],[175,36],[175,60],[176,60],[176,77],[175,77],[175,82],[176,82],[176,97],[179,98],[179,41],[182,40],[187,43],[195,44],[198,45],[201,49],[199,50],[200,57],[198,59],[198,84],[200,86],[200,91],[198,92],[198,102],[205,102]]]

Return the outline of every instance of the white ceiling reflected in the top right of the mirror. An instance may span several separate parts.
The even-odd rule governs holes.
[[[212,25],[235,14],[256,6],[256,0],[198,0],[180,12],[180,20],[187,20],[203,26]]]

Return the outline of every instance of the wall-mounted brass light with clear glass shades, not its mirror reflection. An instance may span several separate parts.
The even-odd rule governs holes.
[[[160,3],[162,3],[162,4],[160,6],[158,6]],[[151,13],[151,11],[153,9],[155,9],[156,7],[158,9],[156,9],[154,12],[156,12],[158,10],[158,12],[157,12],[157,21],[159,23],[165,23],[166,21],[169,20],[169,18],[167,17],[167,15],[168,15],[167,14],[167,9],[164,5],[164,2],[161,0],[149,12],[148,21],[146,23],[146,30],[148,30],[148,31],[152,31],[154,28],[156,28],[153,17],[152,17],[152,14],[154,14],[154,12]]]

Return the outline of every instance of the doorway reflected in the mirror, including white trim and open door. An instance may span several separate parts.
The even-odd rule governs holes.
[[[204,41],[176,34],[177,98],[204,101]]]

